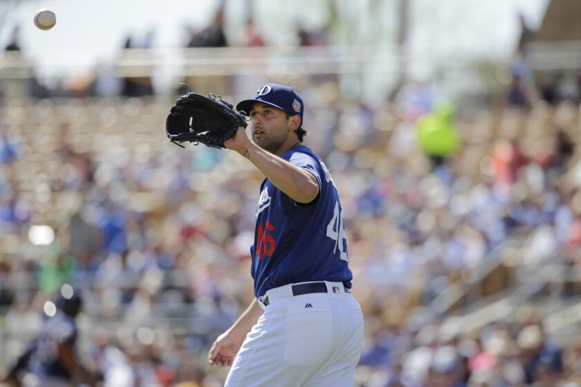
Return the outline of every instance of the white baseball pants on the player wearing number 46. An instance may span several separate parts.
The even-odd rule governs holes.
[[[327,293],[266,292],[269,304],[246,336],[225,387],[351,387],[363,314],[342,283]]]

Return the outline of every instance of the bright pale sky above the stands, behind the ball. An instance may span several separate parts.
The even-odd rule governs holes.
[[[293,25],[299,20],[317,26],[326,20],[332,0],[255,0],[255,23],[269,44],[295,42]],[[518,15],[532,28],[542,21],[548,0],[409,0],[412,53],[455,55],[510,55],[519,36]],[[218,0],[0,0],[0,44],[12,28],[21,26],[26,55],[46,71],[67,66],[82,68],[112,62],[124,39],[142,39],[155,30],[154,46],[178,47],[187,39],[185,26],[203,28],[212,19]],[[234,44],[243,25],[246,0],[230,0],[226,8],[227,35]],[[397,0],[337,0],[345,22],[343,41],[356,44],[393,44]],[[375,6],[375,11],[371,11]],[[40,8],[53,10],[52,30],[35,28]],[[380,10],[378,12],[377,10]],[[378,13],[382,17],[378,17]],[[362,22],[365,21],[365,22]]]

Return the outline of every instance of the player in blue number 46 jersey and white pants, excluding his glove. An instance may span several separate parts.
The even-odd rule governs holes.
[[[253,142],[239,127],[224,145],[266,176],[250,248],[256,299],[214,341],[210,364],[231,366],[228,387],[353,386],[363,315],[337,188],[302,145],[302,98],[270,83],[237,110],[251,117]]]

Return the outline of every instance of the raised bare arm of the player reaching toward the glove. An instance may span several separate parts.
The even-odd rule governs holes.
[[[243,128],[238,129],[237,136],[239,135],[246,137]],[[286,193],[295,202],[310,203],[319,194],[319,183],[313,173],[265,151],[254,142],[250,140],[244,142],[243,147],[237,151],[248,158],[252,164],[255,164],[275,187]]]

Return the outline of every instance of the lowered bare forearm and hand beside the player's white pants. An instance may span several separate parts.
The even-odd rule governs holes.
[[[234,357],[240,350],[246,334],[257,323],[262,313],[262,308],[258,305],[257,300],[254,299],[234,325],[221,334],[212,344],[212,348],[210,348],[208,353],[208,361],[211,366],[232,366]]]

